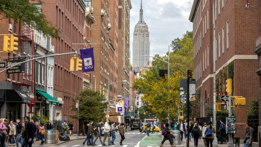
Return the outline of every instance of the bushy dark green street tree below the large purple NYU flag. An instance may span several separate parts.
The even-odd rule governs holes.
[[[104,110],[107,108],[107,102],[102,102],[105,101],[105,98],[99,91],[95,92],[84,88],[76,96],[76,99],[79,100],[79,121],[87,124],[87,121],[92,120],[97,124],[100,119],[105,117]],[[75,99],[73,99],[73,104],[71,108],[77,112],[78,108],[75,107]],[[77,114],[70,115],[70,117],[77,119]]]

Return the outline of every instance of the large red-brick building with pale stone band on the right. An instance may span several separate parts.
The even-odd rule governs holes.
[[[189,17],[193,22],[194,79],[196,88],[200,88],[202,102],[207,100],[207,105],[213,106],[213,72],[221,75],[220,71],[225,67],[227,73],[229,63],[234,61],[233,95],[246,98],[246,106],[233,107],[237,117],[234,136],[240,138],[245,137],[247,111],[251,100],[256,98],[259,85],[255,74],[257,55],[253,53],[258,36],[258,3],[253,1],[249,8],[245,5],[245,1],[194,0]],[[225,83],[221,85],[223,87]],[[201,117],[204,117],[202,109]]]

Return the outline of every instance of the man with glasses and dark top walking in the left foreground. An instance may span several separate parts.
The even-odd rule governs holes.
[[[22,147],[25,147],[28,144],[29,147],[32,147],[32,139],[34,139],[35,128],[32,122],[30,122],[30,117],[24,117],[25,121],[25,130],[24,130],[24,137]]]

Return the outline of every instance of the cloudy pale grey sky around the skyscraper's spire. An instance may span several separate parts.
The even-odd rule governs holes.
[[[187,30],[193,29],[192,23],[189,21],[192,4],[193,0],[142,0],[144,21],[150,32],[150,56],[166,55],[168,45],[172,40],[177,37],[181,38]],[[133,31],[139,21],[140,0],[131,0],[131,6],[130,49],[132,63]]]

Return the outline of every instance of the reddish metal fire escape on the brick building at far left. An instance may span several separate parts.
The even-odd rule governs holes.
[[[14,25],[14,28],[18,30],[17,31],[18,35],[14,35],[14,36],[18,37],[18,42],[21,48],[21,57],[23,57],[24,61],[32,59],[34,55],[34,31],[26,24]],[[34,66],[32,66],[32,64],[33,61],[28,61],[24,63],[24,72],[21,73],[22,82],[21,83],[12,82],[12,84],[16,85],[14,88],[23,89],[31,86],[31,92],[33,91],[32,72]]]

